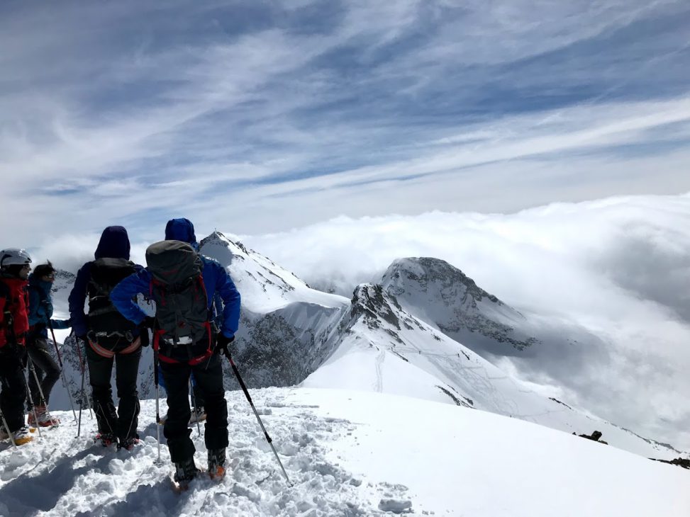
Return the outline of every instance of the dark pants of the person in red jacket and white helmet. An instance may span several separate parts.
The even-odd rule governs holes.
[[[0,348],[0,410],[7,421],[10,433],[24,425],[26,378],[24,377],[21,345],[6,344]]]

